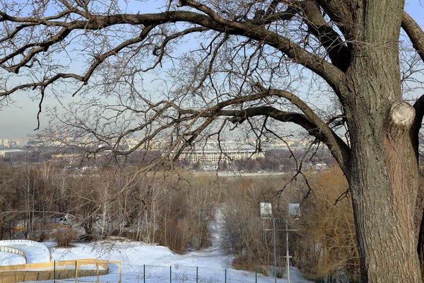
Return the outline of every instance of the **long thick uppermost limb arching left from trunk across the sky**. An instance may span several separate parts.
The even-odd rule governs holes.
[[[288,37],[284,37],[275,31],[260,27],[251,21],[235,22],[229,21],[220,17],[216,12],[199,4],[196,1],[184,1],[196,8],[201,13],[195,13],[192,11],[169,11],[164,13],[146,13],[146,14],[116,14],[116,15],[86,15],[89,17],[85,21],[76,20],[76,21],[49,21],[46,18],[30,18],[30,17],[13,17],[8,16],[6,13],[1,13],[1,21],[9,21],[14,23],[23,23],[25,25],[40,25],[45,26],[46,28],[61,27],[63,28],[62,33],[70,33],[72,30],[102,30],[113,25],[144,25],[144,30],[148,31],[151,27],[156,25],[161,25],[165,23],[178,23],[186,22],[192,23],[194,25],[201,25],[204,28],[211,30],[216,30],[221,33],[228,35],[242,35],[244,37],[249,37],[253,40],[258,40],[266,45],[276,48],[277,50],[283,52],[290,59],[293,59],[294,62],[302,64],[303,66],[311,69],[315,73],[322,76],[324,80],[329,83],[329,85],[336,91],[338,96],[341,96],[341,88],[343,88],[341,81],[343,79],[343,72],[335,67],[333,64],[326,62],[323,58],[317,57],[314,54],[308,52],[300,45],[296,44]],[[206,14],[205,14],[206,13]],[[66,34],[65,34],[66,35]],[[59,36],[64,36],[63,34]],[[143,35],[144,37],[146,35]],[[8,37],[12,39],[13,37]],[[121,45],[106,52],[102,55],[102,58],[110,56],[122,50],[122,48],[139,42],[137,38],[133,39],[134,42],[125,41]],[[47,40],[45,44],[54,44],[55,40]],[[31,45],[36,46],[36,42],[30,43]],[[40,48],[37,46],[37,48]],[[35,54],[41,52],[41,50],[35,50]],[[6,54],[4,59],[12,59],[11,54]],[[13,57],[14,58],[14,57]],[[95,62],[92,65],[92,68],[89,70],[92,71],[93,68],[98,67],[99,62]],[[81,76],[71,75],[71,74],[61,74],[59,77],[73,77],[81,80]],[[86,79],[86,78],[84,78]],[[84,81],[82,79],[81,81]],[[52,81],[46,81],[51,83]],[[2,93],[3,95],[8,95],[10,93]]]

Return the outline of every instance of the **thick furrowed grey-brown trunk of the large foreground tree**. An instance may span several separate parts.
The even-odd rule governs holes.
[[[361,282],[421,282],[413,228],[418,166],[408,129],[415,111],[401,101],[398,39],[402,1],[355,7],[355,44],[346,74],[351,133],[348,182]]]

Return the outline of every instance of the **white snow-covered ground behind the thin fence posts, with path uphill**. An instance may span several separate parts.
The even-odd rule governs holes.
[[[217,215],[217,219],[220,219]],[[46,243],[53,246],[53,243]],[[274,282],[273,277],[265,277],[255,272],[234,270],[231,268],[231,258],[220,251],[220,224],[213,226],[212,246],[205,250],[177,255],[163,246],[151,246],[146,243],[114,239],[95,243],[76,243],[73,248],[53,248],[54,260],[78,260],[83,258],[98,258],[100,260],[119,260],[122,262],[122,282],[196,282],[196,267],[199,281],[204,283],[226,282]],[[33,253],[33,250],[31,251]],[[1,256],[2,253],[0,253]],[[10,255],[11,260],[16,255]],[[0,257],[1,260],[1,257]],[[3,260],[2,265],[5,265]],[[28,262],[30,262],[28,260]],[[143,268],[146,274],[143,273]],[[75,282],[75,279],[68,279]],[[96,277],[81,277],[81,282],[95,282]],[[56,280],[59,282],[59,280]],[[66,282],[66,280],[64,280]],[[119,267],[110,265],[110,274],[100,277],[100,282],[118,282]],[[52,282],[52,281],[50,281]],[[285,277],[277,282],[287,282]],[[306,283],[295,267],[290,268],[290,282]]]

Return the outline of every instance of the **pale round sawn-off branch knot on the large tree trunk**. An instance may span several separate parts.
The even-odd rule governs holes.
[[[391,105],[389,114],[389,130],[391,134],[402,134],[411,127],[415,118],[415,109],[404,101]]]

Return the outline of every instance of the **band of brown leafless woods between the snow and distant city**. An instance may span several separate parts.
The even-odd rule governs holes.
[[[348,185],[339,168],[288,176],[217,178],[187,171],[148,177],[126,190],[124,172],[69,173],[52,163],[0,166],[0,236],[57,241],[125,237],[159,243],[176,253],[210,245],[211,225],[223,220],[221,248],[242,270],[273,272],[270,221],[259,202],[271,200],[276,217],[286,217],[288,202],[300,202],[302,217],[291,219],[292,265],[315,282],[359,280],[359,258]],[[290,183],[283,192],[281,183]],[[418,210],[419,213],[419,210]],[[218,215],[219,214],[219,215]],[[418,219],[419,217],[417,217]],[[285,272],[284,222],[276,234],[278,276]],[[417,225],[418,226],[418,225]],[[265,230],[264,230],[265,229]]]

